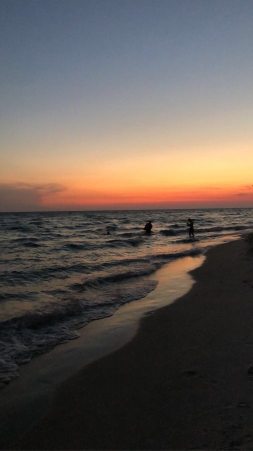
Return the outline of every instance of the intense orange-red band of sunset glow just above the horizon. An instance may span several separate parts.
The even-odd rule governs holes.
[[[223,204],[242,204],[249,206],[253,201],[253,187],[238,186],[238,187],[192,187],[182,186],[169,187],[167,189],[153,188],[150,194],[146,193],[149,187],[141,188],[139,190],[126,190],[125,188],[118,189],[117,192],[112,191],[86,191],[85,189],[68,188],[61,193],[52,194],[50,196],[43,196],[42,205],[44,207],[71,207],[79,209],[85,204],[90,209],[97,205],[99,207],[106,207],[113,205],[120,205],[122,208],[132,205],[143,205],[143,207],[177,207],[183,205],[222,205]]]

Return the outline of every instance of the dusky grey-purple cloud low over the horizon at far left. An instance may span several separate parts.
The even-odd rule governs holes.
[[[58,183],[0,183],[0,211],[46,210],[43,198],[65,189]]]

